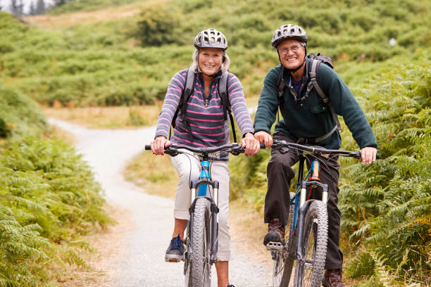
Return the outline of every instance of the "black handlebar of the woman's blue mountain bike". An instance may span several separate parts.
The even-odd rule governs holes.
[[[218,151],[226,151],[227,153],[232,153],[232,155],[239,155],[239,153],[244,153],[245,148],[241,147],[241,144],[225,144],[223,146],[214,146],[214,147],[207,147],[207,148],[194,148],[192,146],[180,146],[177,144],[170,144],[167,148],[165,148],[165,153],[168,155],[177,155],[178,153],[181,153],[179,151],[181,148],[187,149],[187,151],[192,151],[193,153],[199,153],[199,154],[208,154],[208,153],[215,153]],[[265,148],[265,144],[261,144],[261,148]],[[145,150],[149,151],[151,150],[151,146],[149,144],[145,145]]]

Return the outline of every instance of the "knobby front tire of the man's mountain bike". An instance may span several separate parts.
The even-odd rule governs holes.
[[[314,201],[306,213],[303,237],[303,262],[296,262],[295,287],[320,287],[325,269],[327,247],[327,210]]]

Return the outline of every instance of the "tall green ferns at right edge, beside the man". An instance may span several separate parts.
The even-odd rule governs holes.
[[[430,284],[430,61],[370,81],[368,118],[382,160],[345,170],[343,229],[373,257],[376,281]],[[353,246],[351,246],[353,247]],[[351,272],[359,272],[352,265]],[[361,273],[361,272],[360,272]]]

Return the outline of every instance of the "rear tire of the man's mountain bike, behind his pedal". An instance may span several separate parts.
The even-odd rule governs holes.
[[[290,193],[290,199],[295,196],[294,192]],[[293,217],[295,208],[294,205],[290,205],[289,208],[289,231],[286,234],[287,252],[282,255],[281,253],[275,254],[273,264],[273,286],[274,287],[288,287],[290,282],[290,276],[292,276],[292,269],[294,265],[295,247],[294,244],[294,233],[293,233]]]

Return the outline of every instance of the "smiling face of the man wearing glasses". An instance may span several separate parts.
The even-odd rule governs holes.
[[[305,48],[301,42],[294,39],[287,39],[277,46],[278,54],[283,66],[289,70],[298,68],[305,57]]]

